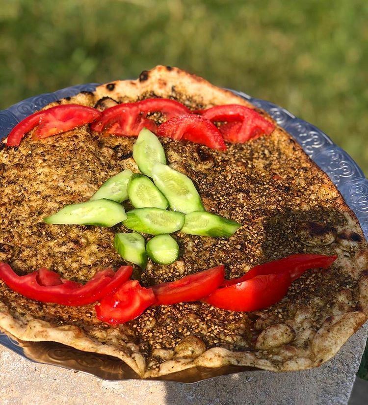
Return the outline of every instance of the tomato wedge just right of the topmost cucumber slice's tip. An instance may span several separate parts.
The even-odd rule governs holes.
[[[226,150],[220,131],[207,118],[185,114],[171,118],[158,127],[157,135],[201,143],[212,149]]]

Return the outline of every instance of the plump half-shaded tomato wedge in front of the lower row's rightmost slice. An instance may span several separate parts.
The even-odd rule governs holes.
[[[218,288],[203,302],[229,311],[257,311],[285,297],[290,284],[288,272],[258,275],[230,287]]]

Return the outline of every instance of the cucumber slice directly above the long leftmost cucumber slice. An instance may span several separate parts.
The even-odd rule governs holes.
[[[125,169],[105,181],[105,183],[92,195],[90,201],[100,200],[105,198],[106,200],[112,200],[116,202],[122,202],[128,199],[127,186],[129,179],[133,172],[129,169]]]

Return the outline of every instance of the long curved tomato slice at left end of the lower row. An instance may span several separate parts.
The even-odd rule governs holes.
[[[100,270],[84,285],[47,271],[41,269],[41,275],[37,270],[19,276],[8,264],[0,263],[0,279],[12,290],[41,302],[67,306],[91,304],[110,294],[129,279],[132,267],[122,266],[116,273],[111,269]]]

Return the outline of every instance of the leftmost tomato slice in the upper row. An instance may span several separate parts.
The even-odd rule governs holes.
[[[69,131],[98,119],[101,112],[95,108],[65,104],[29,115],[17,124],[8,135],[7,146],[18,146],[23,136],[36,126],[32,139],[46,138]]]

